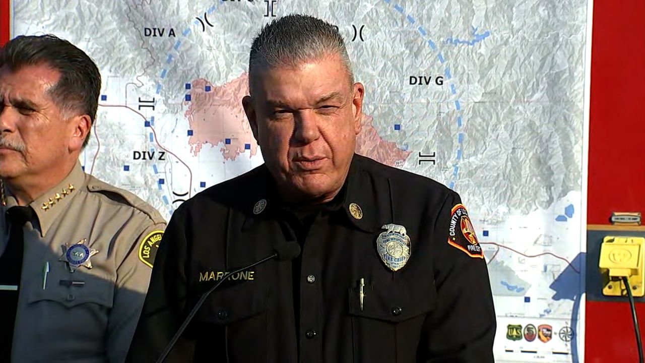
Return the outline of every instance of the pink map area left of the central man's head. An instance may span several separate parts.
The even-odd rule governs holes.
[[[206,92],[206,86],[210,91]],[[245,145],[250,145],[249,157],[257,154],[257,142],[241,105],[247,94],[246,73],[222,86],[213,86],[202,78],[192,81],[190,106],[184,116],[193,130],[188,143],[195,156],[206,143],[212,146],[223,143],[220,150],[224,160],[235,160],[247,151]],[[226,139],[230,143],[227,144]]]

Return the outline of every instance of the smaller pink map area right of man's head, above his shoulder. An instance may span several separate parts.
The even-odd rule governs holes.
[[[361,133],[356,139],[357,154],[391,167],[401,167],[412,152],[401,150],[396,143],[383,140],[373,127],[372,120],[372,116],[363,114]]]

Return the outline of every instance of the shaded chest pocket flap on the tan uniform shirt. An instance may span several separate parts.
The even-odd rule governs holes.
[[[114,282],[79,271],[68,276],[50,273],[44,290],[36,284],[27,295],[28,304],[53,301],[65,307],[90,303],[111,308],[113,299]]]

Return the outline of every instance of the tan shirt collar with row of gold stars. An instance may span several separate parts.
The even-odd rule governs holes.
[[[79,189],[85,183],[85,172],[81,163],[77,162],[74,169],[52,189],[41,194],[29,206],[34,209],[40,225],[41,236],[44,237],[54,221],[63,213]],[[18,205],[15,197],[5,189],[6,209]]]

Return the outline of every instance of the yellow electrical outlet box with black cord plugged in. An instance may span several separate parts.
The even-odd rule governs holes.
[[[628,278],[634,296],[645,295],[645,238],[633,236],[605,236],[600,245],[600,273],[603,275],[602,294],[627,295],[622,276]]]

